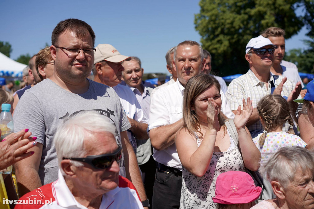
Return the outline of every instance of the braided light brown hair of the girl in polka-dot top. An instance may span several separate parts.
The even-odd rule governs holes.
[[[295,134],[289,104],[281,95],[264,96],[257,104],[257,112],[265,122],[264,132],[258,139],[259,147],[263,146],[266,133],[282,127],[286,121],[290,124],[288,133]]]

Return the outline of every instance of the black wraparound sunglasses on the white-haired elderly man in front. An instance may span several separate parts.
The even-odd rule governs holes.
[[[116,160],[117,163],[120,163],[121,160],[121,147],[119,147],[114,153],[103,154],[103,155],[90,155],[86,158],[62,158],[63,160],[75,160],[84,163],[88,163],[93,166],[95,169],[106,169],[112,165]]]

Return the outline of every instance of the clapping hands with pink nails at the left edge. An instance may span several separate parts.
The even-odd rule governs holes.
[[[34,154],[34,152],[27,152],[37,143],[34,142],[37,137],[30,137],[31,134],[28,129],[23,129],[8,135],[0,142],[0,170]]]

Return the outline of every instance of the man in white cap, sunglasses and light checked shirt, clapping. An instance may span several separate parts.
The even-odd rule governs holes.
[[[292,110],[297,106],[293,100],[298,98],[301,91],[301,83],[296,85],[293,81],[280,75],[271,75],[270,68],[274,63],[274,51],[277,46],[268,38],[258,36],[252,38],[246,45],[245,58],[249,62],[250,69],[239,78],[234,79],[227,90],[226,98],[230,109],[236,114],[239,105],[242,105],[242,99],[250,97],[253,100],[254,107],[252,116],[246,126],[251,132],[252,137],[256,137],[263,132],[262,123],[257,113],[258,101],[267,94],[281,94],[287,99]],[[283,131],[289,130],[289,124],[285,124]]]

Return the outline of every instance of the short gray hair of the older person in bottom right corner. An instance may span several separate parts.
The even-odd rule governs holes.
[[[269,158],[259,169],[263,176],[271,181],[278,181],[286,189],[289,182],[294,181],[295,171],[310,170],[314,173],[314,153],[303,147],[282,147]]]

